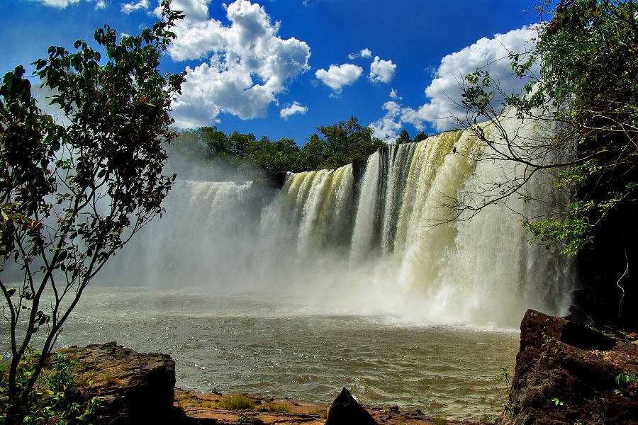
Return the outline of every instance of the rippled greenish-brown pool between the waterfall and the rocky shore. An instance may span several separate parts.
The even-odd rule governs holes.
[[[325,314],[281,297],[203,288],[91,288],[59,346],[118,341],[170,353],[177,385],[330,402],[341,387],[360,402],[399,404],[450,419],[498,412],[500,366],[518,333]]]

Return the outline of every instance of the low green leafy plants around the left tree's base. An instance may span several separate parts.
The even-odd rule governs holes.
[[[41,354],[28,350],[18,364],[16,385],[25,389],[33,375],[35,375],[38,358]],[[99,397],[80,404],[77,399],[77,385],[72,378],[71,371],[76,361],[67,354],[55,353],[52,356],[52,373],[41,374],[36,385],[24,393],[23,409],[28,414],[23,417],[22,424],[89,424],[89,421],[101,409]],[[9,370],[6,365],[0,365],[0,397],[9,398]],[[9,406],[7,406],[9,407]],[[0,407],[0,424],[7,421],[6,407]]]

